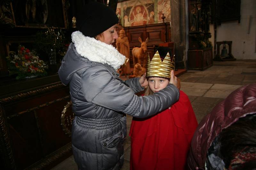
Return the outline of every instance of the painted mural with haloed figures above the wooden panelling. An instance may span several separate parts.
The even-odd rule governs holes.
[[[118,2],[116,15],[122,26],[137,26],[162,23],[171,20],[170,0],[128,0]]]

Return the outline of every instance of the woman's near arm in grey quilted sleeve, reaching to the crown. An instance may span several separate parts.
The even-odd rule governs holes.
[[[173,84],[154,95],[138,97],[103,67],[99,69],[87,69],[82,76],[82,90],[88,102],[143,118],[168,108],[179,99],[179,89]]]

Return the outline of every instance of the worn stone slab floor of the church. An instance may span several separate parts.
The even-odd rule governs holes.
[[[213,62],[204,70],[187,70],[178,76],[181,90],[189,97],[198,123],[216,104],[225,99],[232,91],[256,82],[256,60],[236,60]],[[127,129],[130,130],[132,117],[127,116]],[[124,142],[124,165],[121,170],[129,170],[131,141],[128,136]],[[51,170],[76,170],[73,156],[53,167]]]

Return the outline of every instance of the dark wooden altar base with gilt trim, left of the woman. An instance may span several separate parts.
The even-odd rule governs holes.
[[[0,169],[50,169],[68,158],[71,138],[61,119],[70,128],[72,117],[62,115],[69,101],[58,74],[1,82]]]

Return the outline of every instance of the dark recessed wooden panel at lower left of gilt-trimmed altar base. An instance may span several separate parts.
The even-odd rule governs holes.
[[[14,107],[16,107],[14,105]],[[27,166],[43,158],[40,137],[37,129],[34,112],[28,112],[9,121],[12,141],[12,152],[18,169]]]

